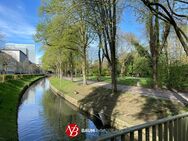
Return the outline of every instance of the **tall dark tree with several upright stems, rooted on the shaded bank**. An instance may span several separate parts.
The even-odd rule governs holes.
[[[115,93],[117,91],[116,32],[118,0],[85,0],[83,2],[88,7],[87,9],[92,11],[92,16],[98,18],[97,26],[94,26],[94,28],[97,27],[96,30],[101,33],[103,38],[103,53],[110,66],[112,92]]]

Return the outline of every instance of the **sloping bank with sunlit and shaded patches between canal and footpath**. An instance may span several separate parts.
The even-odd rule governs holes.
[[[130,125],[136,125],[168,116],[187,112],[187,108],[170,100],[146,97],[139,94],[111,94],[111,90],[102,87],[83,86],[68,80],[50,78],[51,84],[80,102],[87,110],[101,111],[118,117]],[[78,91],[79,94],[74,94]]]

